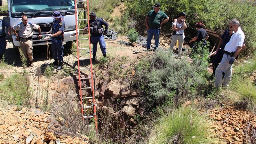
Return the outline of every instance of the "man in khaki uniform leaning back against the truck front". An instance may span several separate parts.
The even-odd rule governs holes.
[[[22,15],[22,22],[16,24],[12,27],[14,34],[20,39],[20,49],[23,52],[24,56],[28,59],[27,60],[27,67],[33,67],[33,46],[32,46],[32,36],[33,36],[33,29],[38,29],[39,35],[38,38],[40,39],[41,36],[41,28],[40,26],[29,22],[28,17],[26,15]],[[19,30],[19,35],[17,34],[16,30]]]

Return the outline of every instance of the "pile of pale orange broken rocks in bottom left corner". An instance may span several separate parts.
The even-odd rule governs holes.
[[[84,135],[55,135],[49,117],[50,113],[38,108],[0,108],[0,144],[89,144]]]

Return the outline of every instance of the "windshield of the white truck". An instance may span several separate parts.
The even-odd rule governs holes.
[[[10,0],[11,12],[74,10],[74,0]]]

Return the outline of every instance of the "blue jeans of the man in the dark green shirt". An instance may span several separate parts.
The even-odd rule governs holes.
[[[147,30],[148,32],[148,40],[147,40],[147,49],[150,49],[150,44],[151,44],[151,40],[153,38],[154,35],[154,39],[155,39],[155,47],[154,49],[156,49],[159,46],[159,36],[160,36],[160,28],[157,29],[149,29]]]

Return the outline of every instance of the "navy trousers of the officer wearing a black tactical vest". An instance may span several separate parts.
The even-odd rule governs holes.
[[[103,35],[91,36],[92,52],[94,54],[96,54],[98,42],[100,44],[100,49],[101,49],[102,54],[106,54],[107,50],[106,50],[106,44],[105,44],[104,36]]]

